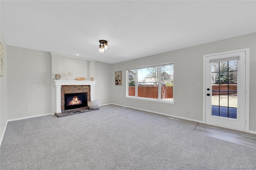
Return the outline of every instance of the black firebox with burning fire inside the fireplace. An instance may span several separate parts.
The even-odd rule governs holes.
[[[64,95],[64,109],[87,107],[87,93],[68,93]]]

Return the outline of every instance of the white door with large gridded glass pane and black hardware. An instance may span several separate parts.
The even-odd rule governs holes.
[[[245,131],[245,51],[205,62],[206,124]]]

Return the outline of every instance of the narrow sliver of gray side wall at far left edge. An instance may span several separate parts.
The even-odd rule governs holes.
[[[7,123],[7,46],[0,30],[0,42],[4,48],[4,76],[0,77],[0,144]]]

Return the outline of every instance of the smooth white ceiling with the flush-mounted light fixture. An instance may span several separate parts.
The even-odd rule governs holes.
[[[118,63],[256,32],[256,1],[0,1],[7,45]],[[99,40],[108,51],[98,53]]]

